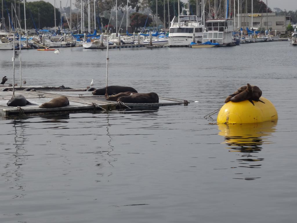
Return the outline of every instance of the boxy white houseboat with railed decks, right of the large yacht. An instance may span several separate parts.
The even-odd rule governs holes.
[[[233,19],[209,19],[202,42],[217,43],[217,46],[236,46],[233,41]]]

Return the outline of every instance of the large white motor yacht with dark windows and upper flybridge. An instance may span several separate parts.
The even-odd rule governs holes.
[[[187,15],[174,17],[169,29],[168,45],[189,46],[191,42],[202,43],[204,26],[199,21],[197,15],[189,15],[189,9]],[[194,41],[193,34],[195,34]]]

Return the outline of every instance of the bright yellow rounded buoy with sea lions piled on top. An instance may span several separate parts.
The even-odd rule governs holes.
[[[261,101],[253,101],[255,106],[248,100],[241,102],[229,101],[219,111],[218,123],[260,123],[278,119],[277,110],[270,100],[261,97]]]

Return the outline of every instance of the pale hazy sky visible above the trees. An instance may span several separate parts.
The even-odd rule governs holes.
[[[36,0],[28,0],[28,1],[36,1]],[[44,0],[44,1],[48,1],[50,2],[51,4],[54,5],[54,0]],[[73,3],[75,2],[75,0],[71,0],[72,1],[72,7],[73,6]],[[93,1],[93,0],[90,0],[90,1]],[[184,2],[186,2],[185,0],[182,0]],[[231,0],[233,1],[233,0]],[[236,0],[235,0],[236,1]],[[248,0],[249,2],[250,0]],[[264,3],[266,4],[266,0],[263,0]],[[62,2],[62,7],[65,7],[66,4],[67,4],[67,0],[61,0]],[[56,4],[58,6],[58,8],[60,7],[60,1],[59,0],[56,0]],[[296,0],[267,0],[267,4],[268,4],[268,7],[271,8],[273,10],[273,8],[280,8],[281,10],[292,10],[292,11],[295,11],[297,10],[297,1]],[[67,7],[70,5],[70,0],[68,0],[68,4],[67,4]]]

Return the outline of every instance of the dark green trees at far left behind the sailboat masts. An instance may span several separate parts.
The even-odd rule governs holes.
[[[25,28],[25,22],[24,22],[24,4],[21,1],[16,1],[16,10],[18,11],[20,2],[20,25],[24,29]],[[5,0],[4,1],[4,21],[5,21],[5,28],[8,29],[9,23],[8,23],[8,15],[7,10],[10,14],[10,17],[12,15],[11,13],[11,3],[13,3],[13,6],[15,5],[14,0]],[[6,8],[7,7],[7,8]],[[39,9],[39,19],[38,19],[38,9]],[[0,5],[0,12],[1,12],[1,5]],[[15,15],[15,12],[13,12],[13,15]],[[34,2],[26,2],[26,28],[28,29],[34,29],[34,23],[36,25],[36,28],[38,28],[40,23],[40,29],[42,27],[53,27],[55,25],[54,21],[54,7],[49,2],[45,1],[34,1]],[[33,18],[33,20],[32,20]],[[57,25],[60,21],[60,12],[56,8],[56,20]],[[33,22],[34,21],[34,22]]]

